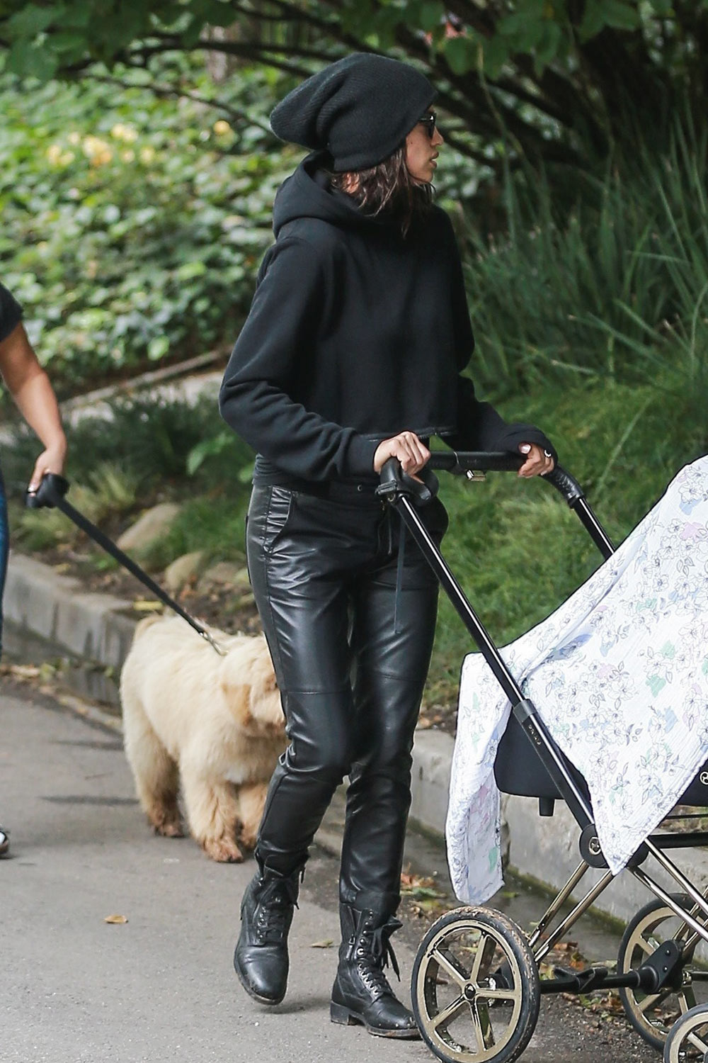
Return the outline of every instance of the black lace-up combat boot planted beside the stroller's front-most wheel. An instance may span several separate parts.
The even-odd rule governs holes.
[[[383,974],[387,959],[398,974],[388,943],[401,924],[379,912],[340,905],[342,944],[340,965],[332,986],[332,1023],[363,1024],[379,1037],[419,1037],[413,1013],[394,996]]]

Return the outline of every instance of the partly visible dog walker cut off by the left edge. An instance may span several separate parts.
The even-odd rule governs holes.
[[[19,406],[24,420],[45,445],[37,458],[30,491],[36,491],[46,472],[61,473],[67,441],[62,428],[56,398],[47,373],[37,360],[21,323],[22,309],[0,284],[0,375]],[[0,472],[0,647],[2,645],[2,591],[7,567],[7,507]],[[10,845],[7,830],[0,827],[0,856]]]

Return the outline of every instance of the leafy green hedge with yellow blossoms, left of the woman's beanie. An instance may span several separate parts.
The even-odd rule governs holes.
[[[0,276],[63,393],[232,343],[292,167],[265,74],[235,82],[239,130],[139,86],[0,80]]]

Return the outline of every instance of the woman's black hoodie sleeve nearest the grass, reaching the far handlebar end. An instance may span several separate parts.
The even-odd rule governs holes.
[[[451,287],[452,315],[454,321],[455,353],[460,375],[457,377],[457,431],[446,436],[445,442],[455,451],[513,451],[519,453],[519,443],[537,443],[553,455],[557,461],[555,448],[540,428],[533,424],[505,421],[488,402],[481,402],[474,393],[474,385],[463,370],[474,351],[474,335],[469,321],[465,280],[462,272],[460,252],[449,225],[450,254],[453,275]]]

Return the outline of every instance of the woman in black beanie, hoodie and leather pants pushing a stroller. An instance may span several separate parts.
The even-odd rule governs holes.
[[[375,493],[397,458],[414,475],[429,438],[526,454],[548,439],[508,425],[460,375],[473,348],[460,256],[431,203],[443,137],[428,80],[353,54],[271,116],[312,149],[280,188],[276,242],[224,375],[224,419],[258,453],[247,558],[290,746],[275,771],[241,906],[235,967],[278,1003],[308,848],[348,775],[342,946],[331,1018],[417,1035],[383,975],[400,895],[411,748],[435,629],[437,585]],[[422,510],[439,541],[438,501]],[[396,526],[394,527],[394,523]]]

